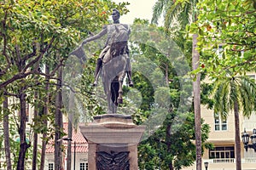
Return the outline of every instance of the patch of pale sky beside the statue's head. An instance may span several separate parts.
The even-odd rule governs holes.
[[[120,17],[120,23],[132,24],[135,18],[147,19],[151,21],[154,3],[157,0],[113,0],[115,3],[128,2],[129,13]]]

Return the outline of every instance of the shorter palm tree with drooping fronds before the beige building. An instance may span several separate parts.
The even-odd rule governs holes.
[[[256,84],[248,77],[226,77],[216,83],[214,91],[214,111],[221,116],[228,116],[234,111],[235,116],[235,152],[236,170],[241,170],[241,141],[239,112],[251,116],[255,109]]]

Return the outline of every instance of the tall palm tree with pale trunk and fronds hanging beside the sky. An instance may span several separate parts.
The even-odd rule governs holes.
[[[195,4],[197,0],[176,2],[176,0],[158,0],[154,5],[152,23],[157,24],[161,14],[164,14],[166,32],[178,23],[175,31],[184,30],[188,24],[197,20]],[[191,20],[189,20],[191,19]],[[174,32],[174,31],[173,31]],[[192,66],[196,70],[200,62],[200,54],[197,51],[197,34],[193,35]],[[194,108],[195,108],[195,146],[196,146],[196,169],[201,170],[201,74],[195,75],[193,82]]]

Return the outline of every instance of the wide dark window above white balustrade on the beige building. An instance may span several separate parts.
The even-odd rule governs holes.
[[[235,158],[234,146],[215,147],[209,150],[210,159]]]

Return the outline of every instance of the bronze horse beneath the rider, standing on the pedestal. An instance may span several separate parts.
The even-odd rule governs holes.
[[[102,62],[102,83],[108,100],[108,113],[116,113],[119,104],[123,103],[123,81],[127,71],[126,53],[129,34],[127,29],[122,26],[115,26],[110,38],[110,48],[105,54]]]

